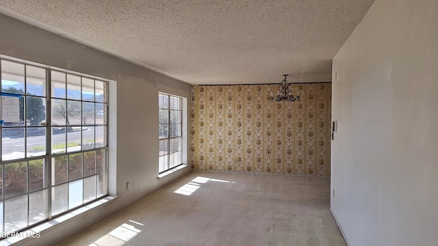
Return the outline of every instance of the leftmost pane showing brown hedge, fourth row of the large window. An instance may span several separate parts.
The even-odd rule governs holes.
[[[27,163],[5,164],[5,198],[27,192]]]

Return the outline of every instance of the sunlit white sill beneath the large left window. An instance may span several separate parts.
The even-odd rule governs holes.
[[[0,246],[14,245],[15,243],[18,242],[25,243],[31,240],[32,238],[38,239],[45,232],[49,232],[55,229],[58,226],[58,224],[67,223],[68,220],[73,219],[74,217],[77,217],[79,215],[86,216],[88,213],[92,213],[92,210],[94,210],[94,208],[103,206],[104,204],[110,204],[114,202],[114,200],[116,200],[118,197],[120,196],[116,195],[116,196],[103,197],[100,200],[97,200],[96,202],[92,202],[86,206],[82,206],[80,208],[72,210],[64,215],[61,215],[60,217],[56,217],[55,219],[51,219],[50,221],[41,223],[38,226],[29,228],[24,232],[17,232],[16,234],[12,234],[10,236],[6,234],[2,234],[1,236],[3,239],[0,241]]]

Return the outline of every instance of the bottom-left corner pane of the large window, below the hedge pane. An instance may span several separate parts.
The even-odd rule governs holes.
[[[5,201],[5,232],[27,226],[27,195]]]

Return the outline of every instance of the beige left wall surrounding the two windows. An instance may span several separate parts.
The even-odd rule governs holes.
[[[110,88],[110,165],[116,166],[110,169],[110,191],[121,197],[86,216],[70,219],[66,226],[52,228],[28,245],[45,245],[75,232],[190,172],[190,167],[185,167],[166,178],[157,178],[158,92],[183,96],[190,102],[191,87],[187,83],[3,15],[0,15],[0,55],[116,81]],[[128,181],[129,190],[126,189]]]

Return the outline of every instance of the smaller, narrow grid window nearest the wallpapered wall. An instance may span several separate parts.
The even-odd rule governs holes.
[[[159,173],[183,159],[183,98],[159,93]]]

